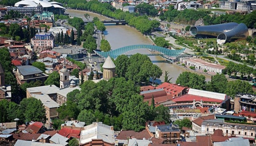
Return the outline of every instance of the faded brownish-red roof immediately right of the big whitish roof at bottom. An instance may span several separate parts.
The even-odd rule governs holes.
[[[141,132],[127,130],[127,131],[120,131],[120,133],[118,134],[116,139],[127,140],[127,138],[129,138],[130,135],[132,135],[132,137],[134,137],[136,139],[151,138],[151,136],[148,134],[147,130],[143,130]]]

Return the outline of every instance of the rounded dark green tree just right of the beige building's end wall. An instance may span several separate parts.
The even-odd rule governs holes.
[[[79,109],[77,108],[76,103],[72,101],[67,101],[60,108],[57,109],[59,113],[59,118],[63,120],[70,120],[71,118],[77,119],[79,114]]]

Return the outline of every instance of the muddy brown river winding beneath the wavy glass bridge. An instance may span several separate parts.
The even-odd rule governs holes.
[[[100,16],[98,14],[94,14],[92,12],[85,12],[85,11],[78,11],[78,10],[67,10],[68,14],[71,16],[80,17],[85,20],[84,14],[88,13],[90,14],[90,19],[92,20],[93,17],[97,16],[100,20],[105,19],[108,20],[108,18],[104,16]],[[115,50],[120,47],[125,47],[129,45],[139,45],[139,44],[147,44],[152,45],[153,42],[150,41],[150,39],[146,38],[144,35],[142,35],[139,31],[137,31],[135,28],[131,28],[129,26],[124,25],[106,25],[106,31],[104,32],[104,39],[108,40],[110,43],[111,49]],[[131,51],[127,54],[150,54],[152,52],[148,50],[136,50]],[[156,60],[165,60],[161,56],[148,56],[151,61]],[[171,79],[171,82],[175,83],[176,79],[178,78],[179,74],[182,72],[185,72],[186,70],[183,68],[180,68],[178,66],[175,66],[173,64],[167,64],[167,63],[154,63],[155,65],[159,66],[163,74],[160,77],[160,80],[164,81],[165,71],[169,72],[169,76]],[[206,81],[210,81],[211,77],[206,76]]]

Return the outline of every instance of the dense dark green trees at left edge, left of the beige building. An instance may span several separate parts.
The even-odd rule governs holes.
[[[40,100],[35,98],[25,98],[20,105],[7,101],[0,101],[0,123],[14,122],[19,118],[19,123],[39,121],[45,122],[45,108]]]

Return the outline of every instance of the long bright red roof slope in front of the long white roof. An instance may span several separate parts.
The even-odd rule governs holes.
[[[212,99],[212,98],[208,98],[208,97],[189,95],[189,94],[181,95],[180,97],[173,99],[174,102],[186,102],[186,101],[193,101],[193,100],[196,100],[196,101],[203,100],[203,101],[216,102],[216,103],[221,103],[223,101],[220,99]]]

